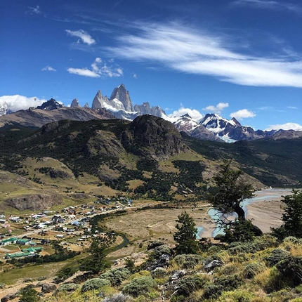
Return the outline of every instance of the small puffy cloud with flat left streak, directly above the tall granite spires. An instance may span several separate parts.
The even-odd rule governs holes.
[[[78,74],[83,77],[121,77],[123,75],[123,70],[118,65],[108,66],[103,62],[101,58],[96,58],[96,60],[91,64],[91,70],[87,67],[85,68],[68,68],[67,72],[70,74]]]

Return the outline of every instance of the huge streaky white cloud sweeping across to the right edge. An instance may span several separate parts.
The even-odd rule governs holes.
[[[118,46],[107,51],[117,58],[159,63],[239,85],[302,87],[302,60],[236,53],[225,39],[175,22],[140,24],[137,29],[137,34],[117,37]]]

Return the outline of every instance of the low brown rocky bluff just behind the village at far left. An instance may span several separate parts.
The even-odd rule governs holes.
[[[14,197],[6,200],[6,204],[12,206],[19,211],[22,210],[34,210],[43,211],[51,209],[51,206],[62,204],[63,198],[58,194],[35,194],[26,195],[22,197]]]

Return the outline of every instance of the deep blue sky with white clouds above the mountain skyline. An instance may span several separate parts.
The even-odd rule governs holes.
[[[0,28],[13,111],[124,84],[171,116],[302,130],[300,0],[1,0]]]

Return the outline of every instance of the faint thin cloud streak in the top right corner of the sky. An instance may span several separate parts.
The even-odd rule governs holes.
[[[293,11],[294,13],[302,13],[302,6],[291,4],[289,2],[277,2],[269,0],[236,0],[232,1],[231,5],[249,6],[254,8],[273,9],[277,11]]]

